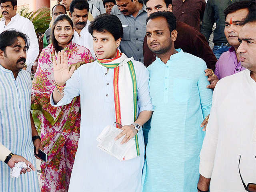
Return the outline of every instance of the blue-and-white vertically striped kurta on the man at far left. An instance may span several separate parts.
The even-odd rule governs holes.
[[[31,136],[30,74],[20,70],[15,80],[12,71],[0,64],[0,143],[36,166]],[[0,162],[1,192],[39,192],[36,171],[10,178],[10,168]]]

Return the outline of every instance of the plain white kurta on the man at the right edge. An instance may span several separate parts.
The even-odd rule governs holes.
[[[256,82],[248,69],[222,78],[213,93],[199,172],[211,178],[211,192],[245,191],[256,183]]]

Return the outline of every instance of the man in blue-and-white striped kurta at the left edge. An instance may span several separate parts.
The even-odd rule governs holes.
[[[0,34],[0,143],[36,165],[30,121],[32,82],[30,74],[22,70],[28,42],[24,38],[16,31]],[[1,192],[40,191],[36,171],[10,178],[10,170],[0,162]]]

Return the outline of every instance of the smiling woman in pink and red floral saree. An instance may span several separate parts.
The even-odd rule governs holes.
[[[73,22],[65,14],[56,18],[52,26],[52,43],[44,48],[38,59],[33,79],[32,104],[35,124],[41,129],[41,142],[48,161],[41,165],[42,192],[67,192],[80,134],[80,96],[62,107],[50,104],[54,74],[52,58],[64,49],[69,66],[93,61],[87,48],[72,42]]]

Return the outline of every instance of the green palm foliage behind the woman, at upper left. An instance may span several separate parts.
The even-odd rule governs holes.
[[[29,8],[22,8],[20,11],[18,11],[20,16],[28,18],[32,21],[34,24],[34,28],[36,30],[36,33],[41,32],[44,34],[46,29],[49,28],[49,24],[51,22],[51,16],[50,16],[50,8],[43,7],[38,9],[37,11],[29,11]],[[0,15],[0,18],[2,18],[2,14]]]

